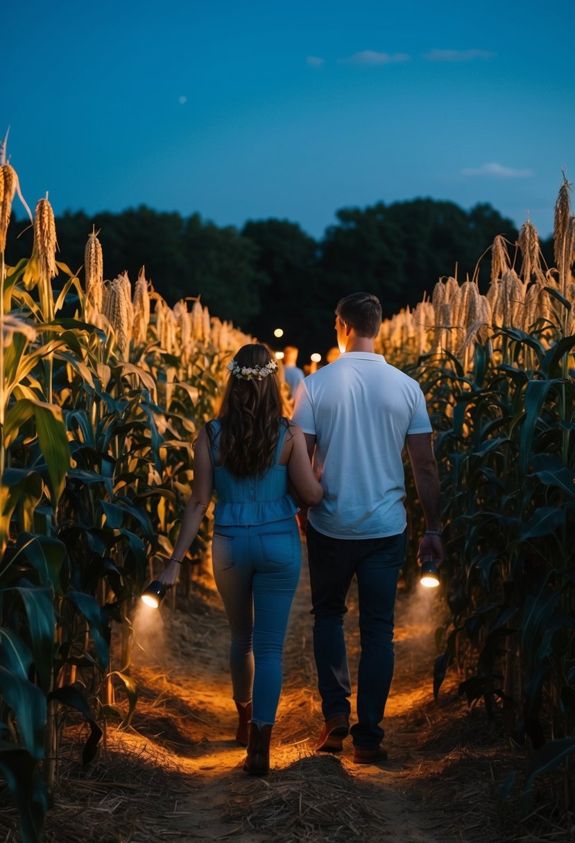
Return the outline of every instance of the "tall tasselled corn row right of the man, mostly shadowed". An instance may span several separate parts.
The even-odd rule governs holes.
[[[498,237],[486,295],[477,279],[440,280],[431,300],[382,325],[379,350],[427,395],[442,478],[449,607],[437,631],[434,693],[501,716],[524,747],[524,792],[562,766],[566,808],[575,752],[575,217],[564,180],[556,267],[535,228]],[[412,497],[415,497],[412,491]],[[411,556],[421,525],[412,524]],[[571,782],[571,783],[570,783]],[[510,776],[502,799],[515,784]]]

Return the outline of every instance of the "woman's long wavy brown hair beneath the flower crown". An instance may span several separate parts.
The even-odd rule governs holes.
[[[234,357],[240,368],[265,366],[274,359],[270,349],[259,343],[242,346]],[[261,380],[244,380],[230,373],[218,419],[218,464],[238,477],[265,474],[276,454],[282,420],[277,372]]]

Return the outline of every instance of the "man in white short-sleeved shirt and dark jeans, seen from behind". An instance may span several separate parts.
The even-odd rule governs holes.
[[[350,732],[343,617],[356,576],[361,641],[357,723],[351,729],[356,764],[387,758],[380,723],[393,676],[395,590],[406,546],[404,446],[427,524],[419,556],[433,556],[437,564],[443,559],[425,399],[415,380],[373,352],[380,325],[375,296],[352,293],[341,299],[336,308],[341,357],[304,380],[293,413],[324,487],[307,526],[314,655],[325,719],[317,749],[340,751]]]

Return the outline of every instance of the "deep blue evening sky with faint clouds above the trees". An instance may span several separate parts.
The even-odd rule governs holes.
[[[575,180],[572,0],[32,0],[3,23],[0,134],[30,206],[320,237],[340,207],[432,196],[545,237]]]

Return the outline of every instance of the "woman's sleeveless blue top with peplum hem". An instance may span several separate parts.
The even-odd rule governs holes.
[[[265,475],[235,477],[228,469],[216,464],[216,449],[221,432],[218,419],[210,422],[214,486],[218,502],[214,509],[214,523],[222,527],[267,524],[293,518],[298,507],[287,494],[287,465],[278,465],[287,424],[280,421],[280,433],[271,468]]]

